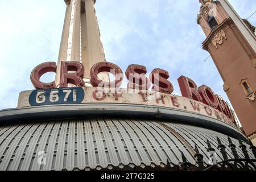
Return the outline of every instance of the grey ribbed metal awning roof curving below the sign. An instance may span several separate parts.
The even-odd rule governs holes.
[[[166,167],[167,160],[174,167],[182,163],[181,151],[197,165],[195,144],[209,164],[207,139],[217,160],[223,160],[216,137],[233,158],[227,135],[171,121],[94,118],[5,125],[0,127],[0,170]],[[232,142],[239,146],[238,140]],[[46,165],[38,163],[40,151],[46,152]],[[251,151],[249,155],[254,158]]]

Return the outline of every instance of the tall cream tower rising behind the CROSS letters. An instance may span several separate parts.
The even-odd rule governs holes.
[[[59,86],[61,61],[80,61],[85,67],[84,81],[90,86],[90,68],[105,61],[94,4],[96,0],[64,0],[67,5],[58,59],[56,85]],[[109,80],[106,73],[100,78]]]

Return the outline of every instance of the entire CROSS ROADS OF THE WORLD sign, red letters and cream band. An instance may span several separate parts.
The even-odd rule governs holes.
[[[84,66],[72,61],[61,63],[60,88],[56,88],[55,81],[50,83],[40,81],[44,73],[56,73],[56,71],[57,66],[54,62],[38,65],[31,73],[31,82],[36,90],[20,93],[18,107],[88,103],[164,106],[208,115],[236,125],[233,111],[227,102],[215,94],[209,86],[202,85],[197,88],[191,78],[181,76],[177,81],[183,97],[173,95],[174,87],[168,80],[169,73],[164,69],[154,69],[148,78],[145,76],[146,67],[130,65],[125,72],[129,81],[127,89],[120,88],[124,74],[121,68],[113,63],[101,62],[91,68],[92,87],[85,86]],[[101,72],[112,73],[115,80],[102,81],[98,78],[98,73]],[[68,88],[68,84],[76,87]]]

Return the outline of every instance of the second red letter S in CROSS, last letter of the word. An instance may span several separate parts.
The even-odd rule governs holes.
[[[154,84],[152,90],[166,94],[174,92],[174,86],[167,80],[169,77],[169,73],[164,69],[154,69],[150,73],[150,81]]]

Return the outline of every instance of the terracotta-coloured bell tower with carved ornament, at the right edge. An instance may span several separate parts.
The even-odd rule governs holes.
[[[226,0],[200,0],[200,24],[210,53],[224,81],[224,90],[247,137],[256,144],[255,27],[241,19]]]

